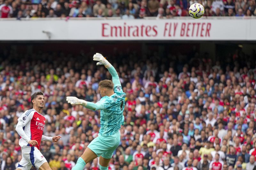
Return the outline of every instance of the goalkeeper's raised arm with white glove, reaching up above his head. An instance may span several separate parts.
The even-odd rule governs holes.
[[[95,55],[93,55],[93,60],[98,61],[96,65],[104,65],[108,69],[109,73],[112,76],[114,89],[116,86],[121,86],[121,82],[119,80],[116,69],[108,62],[108,60],[103,55],[101,55],[100,53],[96,53]]]

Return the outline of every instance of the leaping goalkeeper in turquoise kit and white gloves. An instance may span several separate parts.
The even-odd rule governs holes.
[[[88,145],[72,170],[83,170],[86,163],[97,157],[100,157],[100,170],[108,170],[108,163],[120,143],[119,129],[124,123],[123,111],[126,94],[122,90],[117,72],[103,55],[96,53],[93,55],[93,60],[98,61],[96,65],[103,64],[108,69],[112,81],[100,81],[99,91],[102,98],[97,103],[67,97],[70,104],[80,104],[91,110],[100,110],[99,136]]]

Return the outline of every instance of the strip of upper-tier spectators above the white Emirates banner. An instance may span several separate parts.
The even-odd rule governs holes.
[[[1,18],[120,17],[123,19],[189,16],[200,3],[204,16],[256,15],[255,0],[0,0]]]

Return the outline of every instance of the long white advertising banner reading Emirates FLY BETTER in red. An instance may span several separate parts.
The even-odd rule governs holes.
[[[256,41],[256,19],[1,20],[0,41]]]

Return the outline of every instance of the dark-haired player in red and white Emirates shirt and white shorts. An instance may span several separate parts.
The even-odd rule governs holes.
[[[36,92],[31,96],[33,109],[25,111],[18,119],[16,131],[20,135],[22,159],[16,170],[27,170],[32,166],[39,170],[50,170],[50,166],[39,151],[41,141],[58,142],[60,136],[43,135],[45,117],[41,115],[44,107],[44,94]]]

